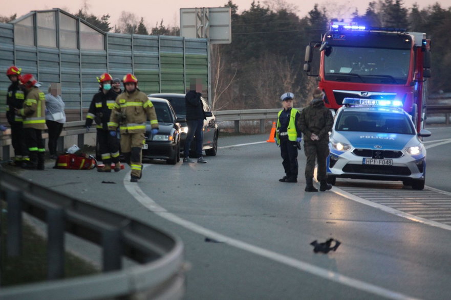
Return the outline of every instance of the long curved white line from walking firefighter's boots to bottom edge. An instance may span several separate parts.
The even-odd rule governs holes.
[[[266,142],[265,142],[266,143]],[[265,257],[267,259],[273,260],[278,263],[285,264],[287,266],[299,269],[304,272],[308,272],[314,275],[317,275],[321,278],[331,280],[337,282],[342,285],[346,285],[364,292],[373,293],[375,295],[379,295],[382,297],[386,297],[389,299],[415,299],[413,297],[391,291],[389,289],[385,289],[370,283],[366,283],[357,279],[350,278],[348,276],[342,275],[337,272],[330,271],[328,269],[320,268],[314,266],[312,264],[306,263],[304,261],[300,261],[297,259],[293,259],[291,257],[281,255],[280,253],[267,250],[261,247],[257,247],[239,240],[235,240],[233,238],[227,237],[220,233],[214,232],[213,230],[202,227],[196,223],[187,221],[178,217],[177,215],[168,212],[166,209],[158,205],[152,198],[148,197],[137,183],[132,183],[126,180],[125,178],[130,178],[131,172],[128,172],[124,177],[124,186],[125,189],[130,193],[138,202],[140,202],[144,207],[146,207],[149,211],[154,212],[156,215],[170,221],[176,223],[182,227],[185,227],[192,232],[203,235],[207,238],[217,240],[219,242],[223,242],[227,245],[254,253],[255,255],[259,255]]]

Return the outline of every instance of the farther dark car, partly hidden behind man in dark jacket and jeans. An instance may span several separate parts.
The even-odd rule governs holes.
[[[158,97],[167,99],[170,104],[174,107],[174,110],[177,114],[177,117],[185,119],[186,117],[186,108],[185,108],[185,94],[151,94],[148,97]],[[218,124],[216,122],[216,117],[214,117],[211,112],[210,106],[207,101],[201,97],[202,104],[204,106],[205,117],[207,120],[204,120],[204,140],[202,150],[205,150],[206,155],[214,156],[218,151]],[[188,132],[188,127],[186,122],[181,122],[182,130],[181,130],[181,142],[180,142],[180,150],[184,150],[186,133]],[[196,139],[195,139],[196,140]],[[190,146],[190,153],[195,153],[196,142],[192,142]]]

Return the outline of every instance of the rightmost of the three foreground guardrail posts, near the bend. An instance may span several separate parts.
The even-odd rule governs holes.
[[[120,230],[103,230],[103,271],[115,271],[122,268],[122,247]]]

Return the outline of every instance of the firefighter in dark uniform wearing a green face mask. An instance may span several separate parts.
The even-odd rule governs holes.
[[[115,100],[118,94],[112,89],[113,78],[110,74],[104,73],[97,77],[100,83],[99,92],[94,95],[89,106],[88,115],[84,126],[89,131],[93,120],[96,122],[97,143],[104,166],[97,168],[99,172],[111,172],[111,163],[114,163],[114,171],[121,170],[119,162],[119,141],[116,136],[112,136],[108,130],[111,111],[114,108]]]

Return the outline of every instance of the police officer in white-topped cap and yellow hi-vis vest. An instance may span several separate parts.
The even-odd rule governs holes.
[[[299,111],[293,108],[293,93],[285,93],[281,96],[284,109],[277,115],[277,126],[274,140],[281,148],[282,165],[285,176],[281,182],[297,182],[297,150],[302,141],[300,128],[297,126]]]

